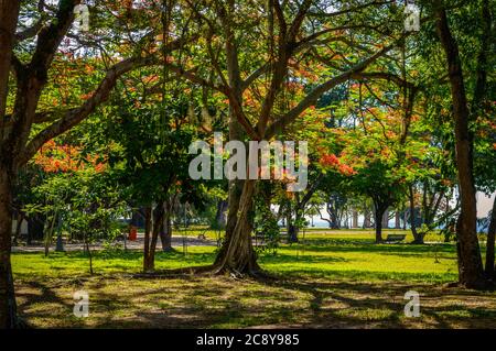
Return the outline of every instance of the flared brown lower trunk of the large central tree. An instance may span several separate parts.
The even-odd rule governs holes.
[[[230,226],[234,226],[234,229],[226,232],[229,237],[226,237],[227,239],[214,264],[217,273],[257,275],[260,272],[260,267],[257,264],[257,255],[251,244],[252,223],[250,216],[254,206],[255,188],[256,180],[248,179],[244,182],[236,215],[237,220],[231,220],[230,223],[228,220],[228,228],[230,229]]]

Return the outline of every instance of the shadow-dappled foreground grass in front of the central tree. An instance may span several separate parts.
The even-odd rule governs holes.
[[[236,281],[197,275],[153,279],[101,276],[83,284],[57,282],[28,283],[29,292],[19,295],[23,300],[20,310],[30,319],[45,319],[48,325],[64,328],[496,326],[494,294],[440,288],[425,283],[356,282],[337,277],[323,281],[302,276]],[[74,284],[91,292],[89,321],[69,316],[71,297],[64,298],[65,293],[58,289],[66,292]],[[408,301],[403,296],[411,289],[421,294],[419,319],[403,316]]]

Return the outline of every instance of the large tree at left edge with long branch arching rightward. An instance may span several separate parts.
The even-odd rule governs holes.
[[[100,10],[93,13],[99,21],[95,21],[91,35],[85,37],[71,30],[74,9],[79,3],[80,0],[61,0],[54,6],[40,0],[37,6],[28,3],[24,8],[20,0],[0,1],[0,328],[18,326],[10,252],[13,186],[19,168],[45,142],[79,123],[106,101],[119,77],[159,62],[153,44],[157,34],[150,26],[152,12],[128,13],[129,8],[105,1],[91,9]],[[133,15],[138,18],[131,21]],[[24,26],[26,18],[34,20],[30,28]],[[116,18],[128,21],[129,25],[120,25],[116,31],[117,23],[108,22]],[[148,29],[145,34],[142,34],[143,23]],[[179,26],[177,30],[181,34]],[[185,36],[175,37],[162,45],[164,50],[160,52],[177,48]],[[99,51],[100,45],[106,50]],[[120,50],[122,47],[132,50]],[[80,56],[89,56],[93,62],[99,59],[106,68],[98,67],[99,81],[86,99],[67,105],[56,101],[57,108],[48,109],[47,103],[40,102],[51,79],[60,78],[51,67],[56,58],[64,56],[63,48],[65,55],[73,58],[71,52],[77,53],[79,48]],[[72,61],[75,62],[87,64],[82,58]]]

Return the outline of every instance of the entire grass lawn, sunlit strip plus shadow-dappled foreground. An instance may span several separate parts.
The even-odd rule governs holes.
[[[14,253],[19,310],[34,327],[97,328],[494,328],[496,294],[449,288],[453,244],[373,244],[370,231],[305,233],[305,242],[261,254],[277,281],[227,276],[133,277],[141,252]],[[159,253],[157,268],[213,262],[215,248]],[[89,294],[88,318],[73,316],[73,293]],[[420,294],[407,318],[405,293]]]

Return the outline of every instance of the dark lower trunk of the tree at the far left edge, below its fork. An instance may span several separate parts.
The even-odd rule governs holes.
[[[18,326],[12,267],[10,263],[12,239],[13,176],[0,165],[0,329]]]

